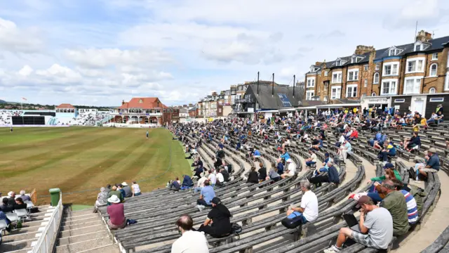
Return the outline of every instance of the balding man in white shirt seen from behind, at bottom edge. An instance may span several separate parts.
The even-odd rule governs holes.
[[[182,236],[171,245],[171,253],[209,253],[208,241],[203,232],[192,231],[194,221],[188,214],[177,219],[176,226]]]

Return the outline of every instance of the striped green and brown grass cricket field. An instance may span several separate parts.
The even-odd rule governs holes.
[[[65,203],[93,205],[107,183],[132,180],[143,192],[189,172],[178,141],[166,129],[60,127],[0,129],[0,192],[36,188],[48,203],[49,188],[60,188]],[[171,146],[171,166],[170,166]],[[163,174],[168,167],[170,169]],[[161,175],[163,174],[163,175]],[[158,176],[161,175],[161,176]],[[155,176],[158,176],[154,178]],[[145,180],[150,179],[150,180]],[[88,190],[82,193],[79,191]]]

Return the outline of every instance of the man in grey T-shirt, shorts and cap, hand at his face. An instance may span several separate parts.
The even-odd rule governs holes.
[[[332,247],[325,249],[325,253],[335,253],[342,250],[347,238],[374,249],[387,249],[393,239],[393,219],[387,209],[377,207],[368,196],[361,196],[357,201],[360,210],[358,228],[360,232],[351,228],[340,228],[337,242]]]

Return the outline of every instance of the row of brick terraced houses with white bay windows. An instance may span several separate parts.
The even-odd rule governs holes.
[[[433,39],[418,32],[415,42],[356,46],[351,56],[316,62],[305,75],[306,100],[339,103],[368,96],[397,96],[449,91],[449,36]]]

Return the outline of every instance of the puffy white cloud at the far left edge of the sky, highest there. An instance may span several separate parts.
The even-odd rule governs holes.
[[[15,22],[0,18],[0,49],[16,53],[36,53],[43,49],[39,29],[20,29]]]

